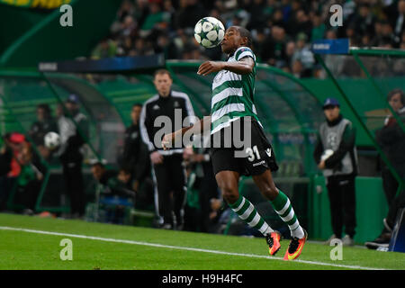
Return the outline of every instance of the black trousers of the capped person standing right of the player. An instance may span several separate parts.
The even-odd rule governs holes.
[[[333,233],[341,238],[345,226],[345,233],[353,238],[356,234],[355,176],[329,176],[327,188]]]

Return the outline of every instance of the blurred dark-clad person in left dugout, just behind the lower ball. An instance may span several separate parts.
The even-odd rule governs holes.
[[[38,148],[41,157],[46,160],[49,159],[50,151],[49,148],[45,147],[44,137],[51,131],[58,133],[57,121],[52,117],[48,104],[39,104],[37,106],[37,121],[32,123],[28,135]]]

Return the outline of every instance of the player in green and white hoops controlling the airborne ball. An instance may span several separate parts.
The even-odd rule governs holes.
[[[290,200],[275,187],[273,181],[271,171],[275,171],[278,166],[273,148],[257,118],[254,104],[257,63],[256,56],[250,48],[251,43],[249,31],[238,26],[229,27],[220,44],[222,51],[229,56],[228,61],[204,62],[197,72],[202,76],[218,72],[212,83],[211,116],[204,117],[193,126],[165,135],[162,144],[164,148],[170,148],[186,131],[188,134],[190,132],[197,134],[210,126],[211,141],[220,139],[223,144],[229,140],[229,137],[226,137],[229,130],[233,129],[233,132],[239,133],[250,132],[251,147],[240,150],[236,143],[231,143],[230,148],[225,148],[225,145],[211,148],[215,178],[230,208],[240,219],[246,221],[250,227],[258,229],[266,237],[269,254],[274,256],[280,249],[280,233],[273,230],[258,214],[255,206],[238,193],[240,175],[253,176],[260,192],[271,202],[291,230],[292,239],[284,259],[292,260],[301,255],[307,232],[297,220]],[[242,129],[238,131],[238,127],[243,128],[243,131]],[[235,157],[236,152],[241,151],[245,153],[245,157]]]

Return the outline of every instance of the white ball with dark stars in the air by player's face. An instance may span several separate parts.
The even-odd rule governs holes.
[[[225,27],[214,17],[204,17],[194,27],[194,38],[203,48],[218,46],[224,35]]]

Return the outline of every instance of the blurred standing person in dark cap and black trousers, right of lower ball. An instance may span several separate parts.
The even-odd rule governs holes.
[[[67,114],[58,118],[61,143],[58,155],[63,167],[67,195],[70,197],[71,216],[81,218],[85,214],[82,147],[89,136],[89,123],[85,114],[80,112],[76,94],[70,94],[65,105]]]

